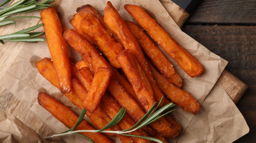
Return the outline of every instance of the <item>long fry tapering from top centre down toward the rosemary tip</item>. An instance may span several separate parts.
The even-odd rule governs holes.
[[[133,56],[138,60],[140,66],[143,68],[150,81],[154,92],[155,101],[159,103],[161,98],[163,97],[163,94],[154,81],[153,75],[147,65],[147,61],[145,60],[145,56],[142,53],[139,43],[130,32],[128,26],[119,15],[118,11],[113,7],[110,1],[107,2],[104,10],[104,20],[106,24],[117,34],[124,48],[130,49]],[[161,103],[160,107],[162,107],[163,105],[164,103]]]

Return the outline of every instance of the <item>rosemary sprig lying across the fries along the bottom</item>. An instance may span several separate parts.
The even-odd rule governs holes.
[[[162,100],[163,100],[163,97],[160,100],[160,103],[162,102]],[[78,119],[77,123],[75,124],[75,126],[73,128],[71,128],[71,129],[69,129],[65,132],[62,132],[60,134],[44,137],[44,139],[52,138],[52,137],[56,137],[56,136],[62,136],[62,135],[70,135],[70,134],[80,135],[80,134],[78,134],[79,132],[92,132],[92,133],[100,132],[100,133],[115,133],[115,134],[126,135],[126,136],[135,136],[135,137],[140,137],[140,138],[152,140],[152,141],[155,141],[155,142],[158,142],[158,143],[163,143],[161,140],[159,140],[157,138],[127,134],[127,133],[131,133],[133,131],[136,131],[136,130],[140,129],[140,128],[150,124],[151,122],[153,122],[153,121],[155,121],[155,120],[157,120],[157,119],[159,119],[159,118],[165,116],[166,114],[175,110],[175,109],[170,110],[170,111],[162,114],[164,111],[166,111],[166,110],[172,108],[173,106],[175,106],[175,104],[169,103],[169,104],[163,106],[162,108],[160,108],[158,110],[158,107],[159,107],[160,103],[157,106],[156,106],[157,103],[154,103],[153,106],[150,108],[150,110],[133,127],[129,128],[129,129],[126,129],[126,130],[122,130],[122,131],[107,131],[106,129],[113,127],[114,125],[118,124],[123,119],[123,117],[126,114],[126,110],[125,110],[124,107],[122,107],[120,109],[120,111],[117,113],[117,115],[105,127],[103,127],[100,130],[77,130],[77,131],[75,131],[75,128],[81,123],[81,120],[83,119],[83,117],[86,113],[86,110],[83,109],[80,116],[79,116],[79,119]],[[160,114],[162,114],[162,115],[160,115]],[[90,138],[88,138],[84,135],[81,135],[81,136],[85,137],[86,139],[88,139],[89,141],[94,143],[94,141],[91,140]]]

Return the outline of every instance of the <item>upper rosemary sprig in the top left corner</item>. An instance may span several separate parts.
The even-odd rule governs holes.
[[[7,4],[10,1],[11,0],[6,0],[2,4],[0,4],[0,7]],[[27,12],[35,11],[38,9],[48,8],[51,6],[49,4],[52,3],[54,0],[46,0],[41,3],[36,3],[37,1],[38,0],[20,0],[20,1],[17,1],[16,3],[0,10],[0,26],[7,25],[7,24],[16,25],[15,21],[10,20],[10,19],[40,18],[37,16],[18,16],[18,17],[11,17],[11,18],[7,18],[7,17],[9,17],[13,14],[17,14],[17,13],[27,13]]]

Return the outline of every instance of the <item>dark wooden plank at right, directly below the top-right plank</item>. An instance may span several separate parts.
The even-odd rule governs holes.
[[[226,70],[248,85],[256,77],[256,26],[200,26],[185,24],[182,30],[229,61]]]

